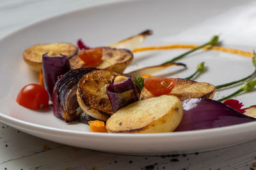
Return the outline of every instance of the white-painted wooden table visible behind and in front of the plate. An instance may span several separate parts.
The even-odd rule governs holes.
[[[42,18],[99,3],[106,1],[0,0],[0,38]],[[187,155],[116,155],[36,138],[0,122],[0,169],[254,169],[255,146],[256,140]]]

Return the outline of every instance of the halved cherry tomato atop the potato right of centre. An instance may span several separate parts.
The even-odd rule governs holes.
[[[145,78],[144,87],[155,96],[169,94],[177,82],[177,78]]]

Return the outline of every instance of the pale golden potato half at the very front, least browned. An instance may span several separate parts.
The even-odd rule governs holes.
[[[172,132],[183,116],[180,100],[175,96],[159,96],[136,101],[116,111],[106,122],[112,133]]]

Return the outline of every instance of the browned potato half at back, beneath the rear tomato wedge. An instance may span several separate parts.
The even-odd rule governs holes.
[[[106,69],[116,73],[123,73],[125,68],[131,64],[132,59],[133,54],[130,50],[103,47],[102,60],[96,66],[86,65],[77,55],[72,57],[69,62],[71,69],[80,67],[96,67],[98,69]]]

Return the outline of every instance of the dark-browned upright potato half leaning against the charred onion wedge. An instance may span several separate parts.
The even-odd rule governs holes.
[[[86,108],[84,106],[88,106],[84,112],[87,111],[86,113],[88,113],[88,110],[95,109],[97,113],[104,113],[104,115],[113,114],[106,88],[116,76],[122,76],[122,74],[106,70],[95,70],[81,78],[78,83],[77,96],[79,97],[77,99],[82,109]],[[93,115],[90,113],[88,115],[96,118],[95,110],[93,110]]]

